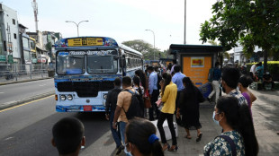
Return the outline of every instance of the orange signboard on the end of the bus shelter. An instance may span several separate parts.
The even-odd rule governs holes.
[[[211,56],[183,57],[183,74],[190,77],[197,87],[208,82],[208,73],[211,68]]]

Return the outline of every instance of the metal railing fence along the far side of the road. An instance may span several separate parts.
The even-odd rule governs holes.
[[[53,76],[54,65],[0,65],[0,82]]]

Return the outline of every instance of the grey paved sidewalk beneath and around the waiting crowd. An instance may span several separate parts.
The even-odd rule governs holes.
[[[259,156],[277,156],[279,155],[279,91],[252,91],[257,100],[253,103],[252,112],[254,126],[259,145]],[[191,130],[192,139],[184,138],[184,128],[178,126],[178,150],[177,152],[165,152],[166,156],[199,156],[203,155],[203,147],[211,142],[215,136],[221,132],[220,126],[217,126],[212,120],[213,104],[204,102],[200,107],[200,121],[202,124],[202,141],[195,142],[196,131]],[[171,144],[171,140],[167,141]],[[112,140],[112,134],[108,131],[98,139],[94,144],[98,146],[87,146],[80,155],[115,155],[115,147]],[[123,152],[121,156],[124,156]]]

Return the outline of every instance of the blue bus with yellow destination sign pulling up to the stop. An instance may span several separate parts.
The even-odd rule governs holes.
[[[116,77],[143,69],[142,54],[107,37],[59,39],[54,76],[58,112],[102,112]]]

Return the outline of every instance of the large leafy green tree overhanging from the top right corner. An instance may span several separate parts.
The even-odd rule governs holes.
[[[265,52],[266,72],[268,53],[279,50],[279,1],[220,0],[212,5],[212,13],[210,21],[202,24],[202,43],[218,39],[229,50],[240,41],[247,54],[258,46]]]

